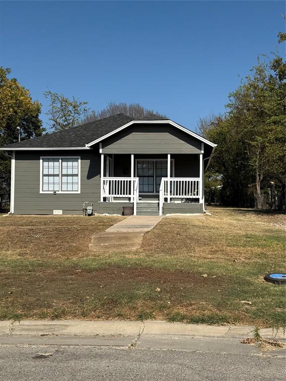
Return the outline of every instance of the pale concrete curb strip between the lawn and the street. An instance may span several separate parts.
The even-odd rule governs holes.
[[[237,338],[253,337],[250,325],[203,325],[159,320],[2,320],[0,335],[78,335],[78,336],[191,336]],[[265,338],[286,340],[283,329],[262,328]]]

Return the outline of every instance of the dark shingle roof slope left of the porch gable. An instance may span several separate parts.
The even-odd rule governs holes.
[[[45,135],[8,144],[2,148],[57,148],[57,147],[84,147],[85,144],[126,125],[133,119],[128,115],[117,114],[112,117],[86,123],[63,131],[47,133]]]

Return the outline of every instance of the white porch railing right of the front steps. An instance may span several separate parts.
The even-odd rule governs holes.
[[[163,177],[159,191],[159,214],[162,215],[165,198],[167,202],[170,198],[201,198],[200,182],[200,178]]]

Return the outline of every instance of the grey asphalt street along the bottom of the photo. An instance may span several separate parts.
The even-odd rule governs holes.
[[[14,340],[17,338],[14,338]],[[145,345],[84,345],[84,338],[68,345],[0,342],[1,381],[284,381],[285,356],[255,353],[250,346],[231,340],[194,342],[200,350],[185,348],[184,340],[149,338]],[[58,338],[59,343],[61,338]],[[6,343],[4,343],[6,341]],[[29,342],[29,340],[26,340]],[[21,340],[19,340],[21,342]],[[68,343],[69,341],[67,341]],[[157,343],[157,344],[156,344]],[[242,347],[241,347],[242,346]],[[149,347],[149,348],[147,348]],[[244,349],[245,348],[245,349]],[[227,352],[227,353],[225,353]],[[46,356],[41,356],[41,354]]]

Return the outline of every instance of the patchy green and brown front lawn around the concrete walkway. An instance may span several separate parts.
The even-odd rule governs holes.
[[[0,216],[0,319],[285,327],[286,287],[263,280],[285,269],[285,216],[210,211],[163,218],[141,250],[124,253],[88,251],[93,234],[123,217]]]

